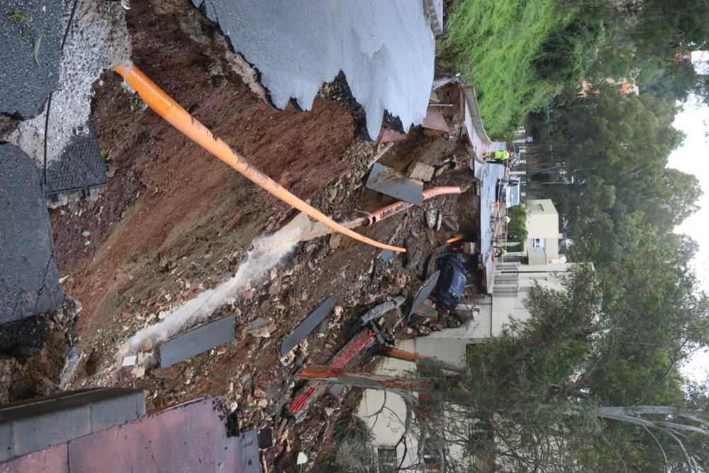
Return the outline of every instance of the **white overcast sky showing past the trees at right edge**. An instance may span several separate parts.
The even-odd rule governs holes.
[[[695,66],[700,72],[709,72],[708,59],[707,52],[693,52]],[[676,116],[674,127],[686,133],[687,137],[681,148],[670,155],[669,167],[694,174],[704,191],[699,198],[700,211],[688,217],[675,231],[686,233],[699,243],[694,267],[701,279],[701,289],[709,293],[709,140],[705,137],[709,131],[709,106],[701,104],[696,98],[690,99]],[[707,379],[709,352],[698,352],[686,363],[683,372],[696,381]]]

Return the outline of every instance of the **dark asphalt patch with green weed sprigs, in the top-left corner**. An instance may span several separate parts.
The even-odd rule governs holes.
[[[59,82],[62,0],[7,0],[0,9],[0,113],[31,118]],[[35,43],[39,42],[35,61]]]

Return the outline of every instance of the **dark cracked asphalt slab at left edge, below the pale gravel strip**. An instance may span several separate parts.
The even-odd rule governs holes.
[[[0,324],[60,308],[64,291],[40,176],[13,145],[0,145],[0,228]]]

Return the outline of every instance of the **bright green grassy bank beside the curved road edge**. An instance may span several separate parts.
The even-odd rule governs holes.
[[[550,33],[564,28],[574,11],[558,0],[462,0],[454,4],[447,35],[439,43],[440,64],[462,72],[478,91],[488,133],[497,138],[528,111],[545,106],[562,85],[537,79],[532,62]]]

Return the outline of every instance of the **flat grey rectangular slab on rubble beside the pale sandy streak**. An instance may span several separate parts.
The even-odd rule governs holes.
[[[232,313],[163,343],[160,345],[160,367],[170,367],[234,340],[235,318]]]

